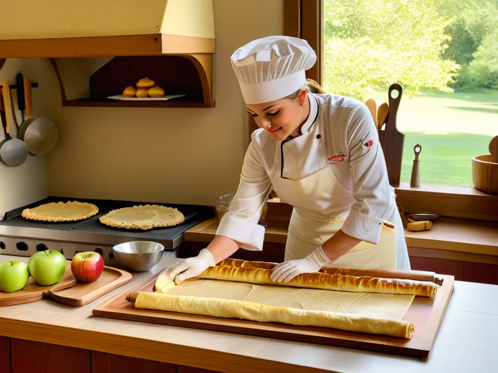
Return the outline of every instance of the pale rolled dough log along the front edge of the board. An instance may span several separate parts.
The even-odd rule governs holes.
[[[170,295],[161,292],[141,291],[135,300],[135,307],[258,322],[312,325],[355,332],[386,334],[400,338],[411,338],[414,331],[413,324],[404,320],[275,307],[244,300]]]

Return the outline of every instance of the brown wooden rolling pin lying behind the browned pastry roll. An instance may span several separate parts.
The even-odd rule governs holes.
[[[246,267],[246,268],[265,268],[273,269],[277,264],[269,262],[249,262],[240,259],[225,259],[220,262],[219,266]],[[443,284],[443,278],[436,276],[435,272],[430,271],[403,271],[403,270],[365,270],[357,268],[340,268],[340,267],[325,267],[320,272],[329,275],[342,276],[371,276],[383,279],[401,279],[401,280],[416,280],[416,281],[431,281],[438,285]]]

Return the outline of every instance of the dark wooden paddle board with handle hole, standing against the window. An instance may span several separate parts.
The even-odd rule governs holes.
[[[396,129],[396,114],[403,94],[403,86],[394,83],[389,87],[389,114],[383,130],[378,131],[380,146],[385,156],[389,184],[399,186],[401,160],[403,158],[404,134]]]

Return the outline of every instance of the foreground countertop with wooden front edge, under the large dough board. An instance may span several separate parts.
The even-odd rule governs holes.
[[[27,257],[0,254],[6,260]],[[177,261],[164,253],[151,271],[82,307],[50,299],[0,307],[0,335],[227,373],[493,372],[498,344],[498,286],[455,281],[426,360],[298,342],[120,321],[92,316],[101,301],[129,290]]]

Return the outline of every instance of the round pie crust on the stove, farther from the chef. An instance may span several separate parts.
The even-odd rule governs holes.
[[[33,208],[25,208],[21,215],[25,219],[40,221],[77,221],[87,219],[99,212],[99,208],[87,202],[67,201],[44,203]]]

